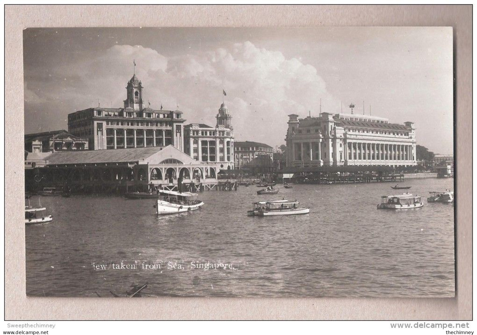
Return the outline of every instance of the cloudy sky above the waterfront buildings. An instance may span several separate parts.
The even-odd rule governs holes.
[[[68,113],[123,107],[133,75],[152,108],[235,138],[284,144],[288,114],[349,112],[415,122],[417,143],[453,152],[452,30],[415,28],[61,28],[24,30],[25,133]]]

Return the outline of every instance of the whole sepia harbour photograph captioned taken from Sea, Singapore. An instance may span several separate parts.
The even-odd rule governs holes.
[[[454,297],[452,33],[23,30],[27,296]]]

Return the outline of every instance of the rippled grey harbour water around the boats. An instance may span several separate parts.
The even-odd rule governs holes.
[[[401,182],[425,203],[402,211],[376,209],[403,193],[391,183],[294,184],[269,196],[241,186],[159,217],[150,199],[41,197],[53,221],[25,227],[27,295],[110,297],[147,282],[153,296],[452,297],[454,206],[426,198],[453,182]],[[282,198],[310,214],[247,216],[252,202]]]

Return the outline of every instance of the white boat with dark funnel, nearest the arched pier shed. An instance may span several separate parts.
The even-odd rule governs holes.
[[[158,215],[167,215],[195,211],[203,205],[197,200],[197,193],[159,190],[154,207]]]

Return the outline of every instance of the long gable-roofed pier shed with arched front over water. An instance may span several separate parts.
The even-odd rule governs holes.
[[[214,189],[218,183],[215,163],[198,162],[172,145],[51,152],[42,159],[42,167],[25,171],[27,189],[67,184],[73,192],[85,193],[176,190],[182,178],[183,190],[197,191]]]

